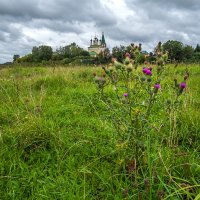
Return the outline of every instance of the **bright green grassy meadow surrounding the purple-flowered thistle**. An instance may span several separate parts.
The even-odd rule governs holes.
[[[155,106],[140,172],[100,99],[93,72],[101,67],[1,69],[0,199],[200,199],[200,66],[167,65],[165,88],[186,67],[171,123]]]

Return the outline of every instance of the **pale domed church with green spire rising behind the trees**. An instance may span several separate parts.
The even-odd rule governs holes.
[[[104,33],[102,33],[101,39],[95,35],[94,39],[91,38],[90,46],[88,47],[88,52],[91,56],[96,57],[101,51],[106,49],[106,41]]]

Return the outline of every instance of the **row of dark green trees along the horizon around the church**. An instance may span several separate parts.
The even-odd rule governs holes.
[[[168,53],[168,62],[200,62],[200,45],[197,44],[196,48],[190,45],[184,45],[182,42],[176,40],[168,40],[165,43],[159,42],[152,52],[142,51],[142,44],[134,45],[133,43],[128,46],[115,46],[112,51],[106,48],[100,52],[96,57],[90,56],[89,52],[79,47],[75,42],[59,47],[53,51],[51,46],[41,45],[33,47],[32,52],[25,56],[13,56],[13,62],[17,63],[49,63],[55,62],[59,64],[80,65],[80,64],[106,64],[110,63],[111,58],[114,57],[118,61],[122,61],[124,55],[129,53],[133,58],[131,52],[132,48],[136,48],[140,54],[137,57],[139,63],[145,60],[149,62],[155,61],[156,48],[160,46],[164,52]]]

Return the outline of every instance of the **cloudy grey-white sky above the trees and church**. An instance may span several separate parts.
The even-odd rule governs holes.
[[[104,32],[108,48],[178,40],[200,43],[200,0],[0,0],[0,63],[76,42],[87,50]]]

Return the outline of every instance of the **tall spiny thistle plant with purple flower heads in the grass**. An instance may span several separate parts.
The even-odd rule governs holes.
[[[140,50],[141,46],[140,49],[132,46],[131,54],[124,55],[123,63],[113,58],[112,65],[103,67],[104,76],[95,74],[100,99],[107,106],[116,128],[116,147],[120,150],[122,160],[134,163],[131,169],[135,170],[136,179],[136,174],[143,173],[141,166],[146,165],[146,162],[149,177],[152,177],[151,151],[159,141],[155,141],[151,134],[154,122],[160,122],[158,114],[166,111],[162,90],[168,59],[160,46],[156,51],[156,65],[145,62],[140,67]],[[185,90],[186,81],[175,82],[175,85],[179,97]],[[130,174],[129,164],[125,165]]]

